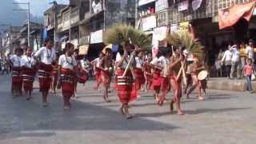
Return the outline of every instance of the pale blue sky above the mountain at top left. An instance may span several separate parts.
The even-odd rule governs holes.
[[[11,0],[1,0],[1,1],[11,1]],[[16,0],[16,2],[28,2],[29,0]],[[52,2],[53,0],[30,0],[30,9],[31,14],[34,14],[36,16],[42,16],[43,12],[49,8],[51,5],[49,2]],[[69,0],[57,0],[60,4],[68,4]],[[26,6],[22,6],[26,7]]]

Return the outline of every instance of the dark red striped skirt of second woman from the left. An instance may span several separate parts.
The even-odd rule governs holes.
[[[23,88],[24,90],[33,90],[34,69],[25,68],[22,70]]]

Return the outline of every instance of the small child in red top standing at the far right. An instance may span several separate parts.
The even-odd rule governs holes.
[[[253,65],[253,60],[251,58],[247,59],[247,65],[243,69],[243,73],[246,75],[246,86],[247,90],[250,93],[254,93],[253,87],[252,87],[252,74],[254,74],[255,68]]]

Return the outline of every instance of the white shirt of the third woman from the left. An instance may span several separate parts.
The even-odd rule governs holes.
[[[50,65],[56,58],[56,51],[54,48],[47,49],[45,46],[40,48],[35,54],[35,57],[41,59],[41,62]]]

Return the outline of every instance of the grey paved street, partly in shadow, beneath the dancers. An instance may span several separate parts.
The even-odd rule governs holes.
[[[101,93],[79,86],[80,98],[70,111],[62,110],[62,98],[50,96],[50,107],[34,98],[10,97],[9,77],[0,76],[0,144],[250,144],[256,141],[256,94],[209,90],[205,102],[184,99],[186,115],[170,114],[168,106],[156,106],[152,94],[142,94],[132,104],[136,118],[126,120],[113,102],[102,102]]]

